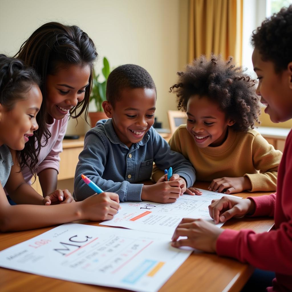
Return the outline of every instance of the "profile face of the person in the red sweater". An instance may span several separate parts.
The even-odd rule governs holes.
[[[253,68],[258,75],[259,83],[256,93],[261,95],[265,113],[270,115],[274,123],[284,122],[292,118],[292,62],[286,70],[276,73],[274,63],[263,61],[255,48],[252,55]],[[289,66],[290,65],[290,66]]]

